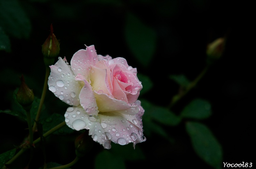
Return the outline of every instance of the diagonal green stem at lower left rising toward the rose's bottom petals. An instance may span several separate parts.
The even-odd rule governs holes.
[[[62,122],[60,124],[58,124],[57,126],[53,127],[51,130],[47,131],[46,133],[43,134],[43,137],[47,137],[50,134],[52,134],[53,132],[59,130],[61,127],[65,126],[66,122]],[[40,141],[40,138],[37,138],[33,144],[36,144]],[[17,154],[15,154],[15,156],[13,156],[13,158],[11,158],[6,164],[11,164],[13,161],[15,161],[21,154],[23,154],[25,151],[27,151],[28,149],[21,149]]]

